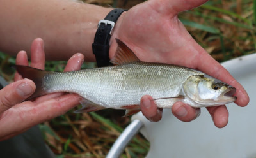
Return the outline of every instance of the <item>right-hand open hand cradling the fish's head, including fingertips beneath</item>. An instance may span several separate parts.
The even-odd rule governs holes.
[[[215,61],[204,48],[190,36],[177,15],[181,11],[200,6],[207,0],[150,0],[134,6],[123,13],[115,25],[111,37],[110,58],[115,55],[118,38],[135,52],[141,61],[163,62],[197,69],[214,78],[236,87],[239,106],[249,102],[243,87],[228,73],[227,69]],[[161,119],[161,110],[156,108],[152,97],[141,99],[141,111],[149,120]],[[228,123],[228,110],[225,105],[207,108],[216,127],[225,127]],[[172,113],[178,119],[189,122],[200,114],[200,109],[177,102]]]

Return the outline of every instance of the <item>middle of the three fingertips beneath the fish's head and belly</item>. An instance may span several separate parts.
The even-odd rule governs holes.
[[[200,115],[201,110],[200,108],[193,108],[188,104],[178,101],[173,104],[172,113],[177,119],[182,120],[183,122],[190,122]]]

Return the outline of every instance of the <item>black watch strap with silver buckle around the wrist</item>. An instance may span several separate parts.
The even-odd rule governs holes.
[[[109,40],[118,17],[124,11],[126,10],[116,8],[110,11],[104,20],[99,21],[94,43],[92,44],[98,67],[109,66]]]

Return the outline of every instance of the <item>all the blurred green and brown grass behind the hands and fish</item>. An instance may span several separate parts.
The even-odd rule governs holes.
[[[88,0],[102,6],[130,8],[143,0]],[[179,15],[191,36],[219,62],[255,52],[256,0],[209,1]],[[12,81],[15,58],[0,54],[0,75]],[[66,62],[47,62],[49,71],[63,71]],[[84,68],[93,68],[86,63]],[[105,157],[129,124],[122,111],[103,110],[76,115],[72,111],[40,125],[45,141],[58,157]],[[138,134],[122,157],[145,157],[149,143]]]

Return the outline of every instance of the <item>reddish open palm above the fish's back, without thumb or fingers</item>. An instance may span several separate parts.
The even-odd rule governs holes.
[[[177,13],[162,13],[157,4],[148,1],[131,8],[122,20],[117,38],[125,41],[142,61],[196,68],[195,58],[200,52],[195,47],[200,46],[178,20]]]

